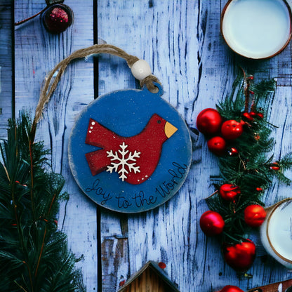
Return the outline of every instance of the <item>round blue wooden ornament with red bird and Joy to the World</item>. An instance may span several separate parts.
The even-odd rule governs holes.
[[[114,91],[91,102],[69,138],[69,165],[81,190],[113,211],[155,208],[178,192],[190,170],[185,121],[158,93]]]

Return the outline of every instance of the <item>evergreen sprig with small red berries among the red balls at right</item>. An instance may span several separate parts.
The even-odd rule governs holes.
[[[232,94],[217,105],[217,110],[226,119],[245,121],[242,135],[229,142],[236,154],[219,157],[220,175],[223,183],[240,187],[241,193],[234,201],[225,201],[218,191],[206,199],[208,207],[223,216],[225,227],[222,241],[235,244],[244,241],[251,231],[244,221],[244,209],[251,204],[263,202],[260,198],[270,187],[273,178],[290,185],[291,180],[284,171],[292,166],[292,154],[274,161],[269,152],[274,147],[271,133],[275,126],[267,121],[269,100],[275,92],[275,81],[261,81],[253,84],[253,77],[239,74],[234,81]],[[253,117],[244,115],[253,114]],[[249,118],[249,119],[247,119]],[[219,189],[220,185],[216,186]]]

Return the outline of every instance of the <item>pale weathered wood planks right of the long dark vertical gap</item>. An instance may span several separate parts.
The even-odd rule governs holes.
[[[197,114],[206,107],[214,107],[230,92],[238,66],[255,73],[255,78],[279,78],[277,95],[267,101],[272,106],[272,122],[288,129],[291,120],[291,87],[285,79],[291,75],[288,56],[291,45],[280,55],[260,62],[239,58],[225,45],[220,36],[220,11],[226,1],[98,1],[99,37],[114,43],[133,55],[144,58],[164,86],[163,98],[168,100],[185,117],[187,124],[195,127]],[[110,20],[110,21],[102,21]],[[282,65],[283,63],[283,65]],[[123,61],[116,58],[100,60],[100,93],[135,86],[133,77]],[[114,84],[111,80],[114,79]],[[284,106],[284,103],[286,104]],[[279,114],[285,107],[285,114]],[[291,150],[291,131],[277,128],[275,157],[282,147]],[[285,137],[283,137],[285,135]],[[194,135],[193,165],[183,188],[168,203],[154,211],[128,215],[127,237],[129,263],[124,260],[124,273],[119,265],[112,270],[103,268],[104,279],[110,273],[117,282],[120,277],[136,272],[147,260],[163,261],[166,272],[178,284],[180,291],[214,291],[227,284],[244,290],[254,286],[279,281],[289,277],[288,272],[268,257],[260,245],[258,234],[253,239],[258,244],[258,257],[249,271],[252,278],[238,279],[225,265],[220,247],[215,239],[206,238],[199,229],[199,218],[207,207],[204,198],[213,192],[212,183],[218,178],[215,157],[208,152],[206,140]],[[279,191],[281,190],[281,194]],[[267,192],[267,204],[288,197],[288,188],[275,183]],[[125,219],[123,217],[123,225]],[[105,211],[102,215],[102,242],[117,242],[121,231],[119,215]],[[114,246],[114,244],[112,244]],[[119,249],[112,249],[119,257]],[[105,250],[102,250],[105,253]],[[274,268],[276,267],[276,268]],[[126,270],[128,268],[128,270]],[[103,291],[113,291],[104,286]],[[117,289],[117,286],[116,286]]]

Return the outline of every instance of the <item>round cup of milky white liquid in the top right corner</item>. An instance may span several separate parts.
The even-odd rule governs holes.
[[[290,15],[281,0],[233,0],[225,11],[222,30],[227,44],[248,58],[279,52],[290,36]]]

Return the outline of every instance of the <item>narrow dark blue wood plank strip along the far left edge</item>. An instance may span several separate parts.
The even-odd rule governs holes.
[[[13,111],[13,2],[0,3],[0,137],[6,137]]]

